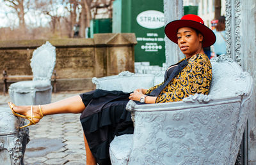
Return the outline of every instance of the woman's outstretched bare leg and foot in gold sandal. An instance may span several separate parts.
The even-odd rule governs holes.
[[[43,115],[53,115],[58,113],[81,113],[85,109],[80,96],[68,97],[55,103],[41,105]],[[14,106],[13,111],[21,115],[31,116],[30,106]],[[33,116],[40,117],[40,110],[37,105],[33,106]],[[38,118],[33,119],[39,122]]]

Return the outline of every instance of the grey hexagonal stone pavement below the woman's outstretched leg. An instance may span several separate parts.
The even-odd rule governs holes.
[[[52,94],[52,102],[80,94],[79,92],[58,92]],[[0,94],[0,106],[8,107],[8,95]],[[59,114],[45,116],[38,124],[29,126],[30,141],[26,147],[24,164],[86,164],[83,130],[80,114]]]

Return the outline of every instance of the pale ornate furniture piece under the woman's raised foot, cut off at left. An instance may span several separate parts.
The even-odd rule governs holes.
[[[22,118],[15,117],[10,108],[0,107],[0,164],[23,165],[29,129]]]

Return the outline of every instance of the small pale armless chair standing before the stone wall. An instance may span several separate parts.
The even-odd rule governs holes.
[[[47,41],[33,52],[31,69],[32,81],[12,83],[9,94],[18,105],[51,103],[51,76],[56,63],[55,47]]]

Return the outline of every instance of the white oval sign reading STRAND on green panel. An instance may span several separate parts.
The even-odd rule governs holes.
[[[142,27],[157,29],[164,26],[164,13],[157,10],[147,10],[141,12],[136,20]]]

